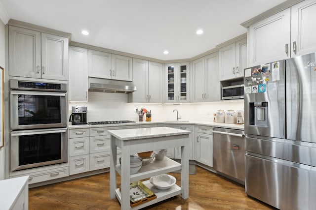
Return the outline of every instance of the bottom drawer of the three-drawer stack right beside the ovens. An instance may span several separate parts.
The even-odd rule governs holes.
[[[89,171],[89,155],[69,157],[69,174],[79,174]]]

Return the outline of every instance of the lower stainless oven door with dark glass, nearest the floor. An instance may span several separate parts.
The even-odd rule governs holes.
[[[11,132],[11,171],[67,162],[67,128]]]

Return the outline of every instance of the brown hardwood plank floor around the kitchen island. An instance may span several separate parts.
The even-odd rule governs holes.
[[[177,180],[180,174],[170,173]],[[118,176],[118,184],[119,184]],[[31,188],[29,210],[119,210],[117,199],[110,199],[110,174]],[[147,210],[270,210],[247,197],[244,186],[197,167],[190,175],[189,198],[175,196]],[[177,184],[180,184],[177,181]]]

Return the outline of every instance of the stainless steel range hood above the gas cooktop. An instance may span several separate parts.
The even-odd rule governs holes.
[[[129,81],[88,78],[89,91],[92,92],[116,92],[116,93],[130,93],[136,91],[134,83]]]

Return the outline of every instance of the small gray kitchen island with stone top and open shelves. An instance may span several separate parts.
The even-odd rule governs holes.
[[[189,134],[191,131],[169,128],[150,127],[135,129],[109,130],[111,134],[110,150],[110,197],[118,198],[121,210],[141,209],[170,197],[181,194],[183,199],[189,197]],[[121,149],[121,165],[117,165],[117,147]],[[181,164],[165,157],[143,165],[136,174],[130,174],[130,155],[138,152],[181,147]],[[149,180],[143,181],[157,198],[139,206],[130,207],[130,182],[143,180],[181,169],[181,187],[174,185],[168,190],[157,190]],[[120,189],[117,186],[117,172],[120,175]]]

